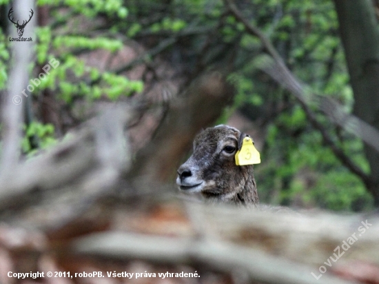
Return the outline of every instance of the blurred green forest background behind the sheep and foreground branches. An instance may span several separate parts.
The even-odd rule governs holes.
[[[196,129],[231,123],[252,134],[262,156],[255,167],[261,201],[370,210],[379,202],[378,151],[362,141],[357,128],[349,131],[328,116],[322,104],[294,95],[286,79],[275,76],[280,68],[267,72],[271,61],[266,57],[287,65],[302,82],[305,97],[327,98],[338,104],[336,110],[354,113],[378,129],[377,4],[368,0],[37,1],[34,33],[29,25],[24,32],[34,44],[30,79],[37,78],[52,59],[59,66],[33,85],[32,92],[26,91],[28,98],[21,96],[25,103],[21,159],[64,139],[101,112],[99,105],[116,101],[132,105],[143,101],[141,116],[146,117],[147,108],[154,107],[150,122],[140,119],[130,126],[134,137],[141,129],[151,132],[132,138],[132,155],[136,155],[159,125],[170,128],[165,117],[172,101],[185,97],[191,84],[213,72],[231,87],[229,97],[223,98],[225,104],[213,121],[189,116],[188,123],[196,124]],[[10,32],[17,37],[8,15],[11,6],[1,1],[2,98],[12,66],[10,48],[19,44],[8,40]],[[212,80],[205,84],[216,90]],[[169,161],[172,172],[165,174],[165,182],[174,183],[175,168],[189,153],[192,138],[176,153],[180,159]]]

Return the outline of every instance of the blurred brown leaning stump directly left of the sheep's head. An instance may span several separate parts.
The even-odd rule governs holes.
[[[128,179],[138,184],[141,179],[155,184],[172,182],[183,158],[181,154],[191,148],[194,136],[202,128],[221,116],[233,96],[232,85],[220,72],[210,72],[195,79],[186,94],[172,102],[150,144],[137,154]]]

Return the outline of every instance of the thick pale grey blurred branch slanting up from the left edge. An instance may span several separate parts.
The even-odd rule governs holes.
[[[49,152],[1,174],[1,219],[15,217],[30,225],[37,218],[31,223],[44,227],[61,225],[85,210],[130,165],[123,128],[131,113],[125,106],[111,108]],[[30,207],[35,214],[19,219]]]

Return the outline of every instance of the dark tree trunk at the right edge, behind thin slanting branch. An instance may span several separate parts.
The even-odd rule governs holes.
[[[334,0],[345,48],[354,113],[379,129],[379,27],[371,0]],[[379,152],[365,145],[371,168],[367,190],[379,206]]]

